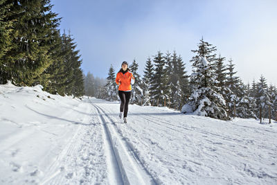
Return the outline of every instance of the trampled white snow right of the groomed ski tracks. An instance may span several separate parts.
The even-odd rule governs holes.
[[[98,105],[114,122],[118,120],[118,104]],[[277,182],[277,130],[273,126],[137,105],[129,107],[126,125],[116,123],[158,184]]]

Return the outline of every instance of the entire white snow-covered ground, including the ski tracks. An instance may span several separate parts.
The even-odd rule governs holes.
[[[277,184],[277,123],[0,85],[0,184]]]

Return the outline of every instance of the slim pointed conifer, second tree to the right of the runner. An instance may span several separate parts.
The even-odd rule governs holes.
[[[154,67],[151,59],[148,58],[143,71],[143,105],[151,105],[152,91],[150,89],[152,89],[153,77]]]

